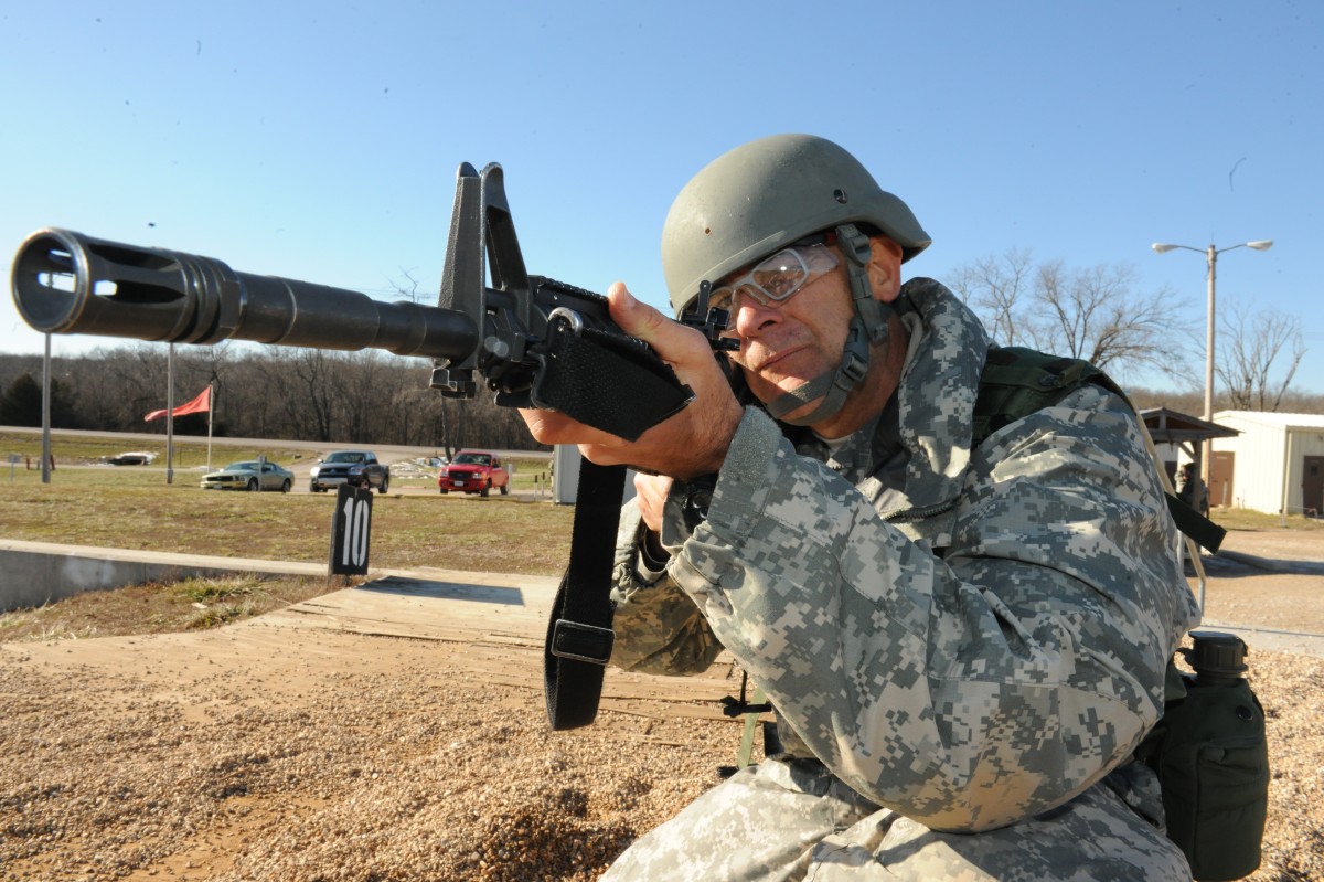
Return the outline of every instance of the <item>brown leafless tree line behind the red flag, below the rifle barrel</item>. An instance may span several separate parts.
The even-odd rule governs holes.
[[[60,429],[166,433],[169,347],[136,343],[52,358],[50,424]],[[0,355],[0,425],[41,425],[42,356]],[[536,449],[523,420],[490,395],[446,399],[429,362],[375,350],[327,352],[222,343],[176,346],[175,407],[214,383],[217,437],[359,445]],[[177,434],[207,434],[207,413],[175,417]],[[544,448],[545,449],[545,448]]]

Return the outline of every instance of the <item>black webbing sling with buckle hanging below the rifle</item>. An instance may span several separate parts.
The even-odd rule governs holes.
[[[612,657],[612,565],[625,466],[580,462],[571,563],[547,626],[543,681],[553,730],[588,726],[597,715],[602,673]]]

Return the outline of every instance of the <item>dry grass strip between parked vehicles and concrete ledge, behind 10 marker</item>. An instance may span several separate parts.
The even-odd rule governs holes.
[[[326,559],[335,494],[214,493],[160,470],[17,470],[3,490],[0,536],[228,558]],[[426,479],[430,483],[430,478]],[[404,482],[392,481],[400,487]],[[372,563],[551,575],[569,550],[573,510],[493,495],[373,498]]]

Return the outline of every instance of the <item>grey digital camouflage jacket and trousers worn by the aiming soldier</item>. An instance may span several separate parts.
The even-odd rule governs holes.
[[[1190,878],[1148,769],[1108,776],[1198,622],[1136,417],[1087,385],[972,452],[986,335],[931,279],[902,298],[911,351],[873,426],[797,450],[749,408],[707,520],[688,535],[669,501],[662,573],[626,506],[613,663],[728,649],[786,754],[605,878]]]

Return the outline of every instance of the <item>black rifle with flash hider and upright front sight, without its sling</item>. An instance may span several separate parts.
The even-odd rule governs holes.
[[[474,397],[477,371],[502,407],[560,411],[628,441],[692,399],[670,366],[612,322],[605,297],[527,273],[496,163],[481,173],[459,166],[434,307],[53,228],[19,248],[12,289],[23,318],[46,334],[432,358],[430,385],[445,396]],[[723,350],[730,315],[710,310],[707,294],[704,283],[679,320]]]

